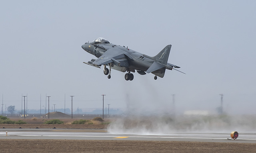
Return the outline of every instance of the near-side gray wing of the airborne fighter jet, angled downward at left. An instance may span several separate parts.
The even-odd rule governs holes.
[[[124,52],[118,48],[108,49],[104,54],[102,54],[98,59],[96,59],[93,65],[105,65],[108,63],[113,63],[114,65],[128,67],[128,62]]]

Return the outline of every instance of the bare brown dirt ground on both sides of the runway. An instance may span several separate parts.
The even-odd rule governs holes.
[[[106,129],[109,120],[71,124],[78,118],[60,119],[64,124],[43,124],[42,118],[12,118],[27,124],[0,124],[0,128]],[[103,123],[103,124],[102,124]],[[209,143],[186,141],[0,139],[0,153],[255,153],[254,143]]]

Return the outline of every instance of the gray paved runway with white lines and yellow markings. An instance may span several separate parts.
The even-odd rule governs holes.
[[[7,136],[6,136],[6,131]],[[173,134],[122,134],[106,129],[0,129],[0,139],[77,139],[77,140],[144,140],[256,143],[256,133],[239,133],[228,140],[230,133],[175,132]]]

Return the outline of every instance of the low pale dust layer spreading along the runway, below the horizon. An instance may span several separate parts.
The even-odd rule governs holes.
[[[178,132],[240,133],[255,132],[256,116],[239,115],[131,115],[114,119],[108,126],[110,133],[171,134]]]

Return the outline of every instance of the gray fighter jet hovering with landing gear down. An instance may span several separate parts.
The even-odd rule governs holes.
[[[133,51],[128,47],[112,44],[101,37],[82,45],[82,49],[98,58],[91,59],[91,61],[87,63],[84,62],[85,64],[98,68],[104,65],[104,74],[108,75],[108,78],[111,78],[111,69],[128,72],[124,75],[125,80],[133,80],[134,75],[131,72],[135,73],[135,70],[140,75],[152,73],[155,75],[154,79],[156,80],[157,76],[161,78],[164,77],[165,69],[172,70],[174,67],[180,68],[167,63],[171,47],[172,45],[167,45],[156,56],[150,57]],[[106,67],[107,65],[109,69]],[[177,69],[174,70],[178,71]]]

